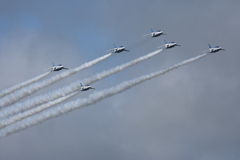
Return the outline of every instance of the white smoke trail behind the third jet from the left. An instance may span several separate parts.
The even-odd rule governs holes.
[[[0,99],[0,108],[8,106],[10,104],[13,104],[13,103],[17,102],[18,100],[35,93],[39,89],[47,87],[47,86],[65,78],[65,77],[67,77],[67,76],[70,76],[72,74],[75,74],[75,73],[87,68],[87,67],[90,67],[90,66],[108,58],[109,56],[111,56],[111,54],[112,53],[109,53],[109,54],[104,55],[100,58],[97,58],[93,61],[84,63],[83,65],[81,65],[79,67],[76,67],[74,69],[69,69],[69,70],[67,70],[65,72],[62,72],[60,74],[57,74],[57,75],[55,75],[55,76],[53,76],[53,77],[51,77],[47,80],[44,80],[44,81],[39,82],[39,83],[32,84],[30,86],[27,86],[25,88],[22,88],[22,89],[20,89],[16,92],[14,92],[14,93],[11,93],[11,94],[9,94],[9,95]]]

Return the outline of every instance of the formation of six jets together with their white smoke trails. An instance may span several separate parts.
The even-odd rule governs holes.
[[[144,35],[144,37],[151,36],[152,38],[156,38],[161,35],[166,35],[166,34],[164,34],[163,31],[161,30],[154,32],[151,29],[151,33]],[[27,80],[26,82],[19,83],[13,87],[0,91],[0,137],[5,137],[12,133],[16,133],[20,130],[39,124],[50,118],[54,118],[61,114],[71,112],[75,109],[82,108],[91,104],[95,104],[104,98],[121,93],[122,91],[127,90],[135,85],[138,85],[146,80],[150,80],[151,78],[157,77],[159,75],[163,75],[171,70],[177,69],[180,66],[183,66],[193,61],[196,61],[198,59],[201,59],[204,56],[208,55],[209,53],[216,53],[220,50],[224,50],[220,46],[216,46],[212,48],[211,45],[209,44],[209,49],[206,51],[203,51],[204,54],[202,55],[190,58],[188,60],[184,60],[178,64],[175,64],[163,70],[159,70],[147,75],[143,75],[127,81],[123,81],[122,83],[114,87],[96,91],[90,94],[86,98],[82,98],[82,99],[80,98],[75,101],[70,101],[69,103],[56,106],[55,108],[53,107],[59,103],[66,101],[72,96],[76,95],[79,91],[88,91],[90,89],[95,89],[90,86],[90,84],[94,82],[97,82],[103,78],[106,78],[112,74],[115,74],[128,67],[138,64],[139,62],[142,62],[148,58],[151,58],[161,53],[164,49],[171,49],[171,48],[174,48],[175,46],[180,46],[180,45],[177,44],[176,42],[168,43],[166,40],[164,40],[164,45],[157,47],[160,49],[154,52],[148,53],[147,55],[144,55],[132,61],[123,63],[122,65],[113,67],[109,70],[104,70],[103,72],[96,73],[92,76],[86,77],[82,80],[78,80],[71,84],[67,84],[66,86],[63,86],[56,90],[51,90],[46,94],[38,95],[30,99],[27,99],[25,101],[20,101],[21,99],[29,95],[32,95],[33,93],[35,93],[36,91],[44,87],[50,86],[67,76],[75,74],[85,68],[93,66],[94,64],[97,64],[98,62],[110,57],[112,53],[121,53],[123,51],[130,52],[130,51],[127,50],[124,46],[120,46],[117,48],[116,45],[114,44],[113,49],[107,50],[107,51],[110,51],[109,54],[106,54],[92,61],[86,62],[74,69],[69,69],[69,70],[68,68],[65,68],[61,64],[56,66],[54,63],[52,63],[53,66],[47,69],[49,70],[49,72],[39,75],[30,80]],[[40,81],[40,79],[46,77],[50,72],[61,71],[63,69],[67,71],[60,72],[55,76],[52,76],[48,79],[38,82]],[[53,107],[53,108],[50,108],[50,107]]]

